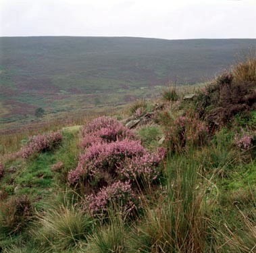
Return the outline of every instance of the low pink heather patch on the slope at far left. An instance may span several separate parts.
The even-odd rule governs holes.
[[[48,134],[33,136],[28,141],[28,144],[22,148],[21,155],[26,159],[32,154],[52,150],[60,144],[61,140],[62,135],[59,132],[50,132]]]

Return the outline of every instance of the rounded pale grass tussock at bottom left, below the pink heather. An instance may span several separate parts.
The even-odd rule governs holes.
[[[82,210],[59,206],[39,214],[33,231],[35,246],[48,252],[75,252],[86,244],[93,227],[93,219]]]

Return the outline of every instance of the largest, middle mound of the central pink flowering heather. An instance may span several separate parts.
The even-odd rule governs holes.
[[[155,167],[160,161],[157,154],[150,154],[138,140],[124,139],[117,142],[94,144],[80,155],[78,166],[74,171],[70,171],[68,180],[72,185],[80,179],[87,180],[100,187],[102,184],[111,183],[118,177],[135,179],[140,173],[148,175],[152,179],[156,178]],[[132,169],[134,171],[131,171]]]

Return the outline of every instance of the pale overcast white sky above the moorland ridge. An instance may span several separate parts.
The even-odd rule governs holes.
[[[0,36],[256,38],[256,0],[0,0]]]

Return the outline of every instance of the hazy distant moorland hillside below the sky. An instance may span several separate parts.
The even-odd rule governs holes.
[[[56,115],[124,104],[168,80],[204,82],[249,47],[255,39],[2,37],[0,123],[33,121],[39,107]]]

